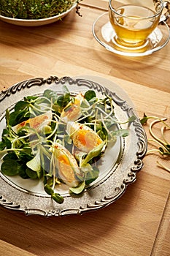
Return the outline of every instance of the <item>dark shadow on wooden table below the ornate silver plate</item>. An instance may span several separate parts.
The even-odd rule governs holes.
[[[25,216],[22,212],[0,208],[0,238],[41,256],[49,255],[52,250],[53,253],[67,250],[72,253],[77,243],[82,244],[82,241],[89,246],[98,244],[101,239],[107,238],[112,230],[116,233],[116,230],[123,226],[127,209],[129,212],[131,208],[129,201],[135,193],[137,182],[129,185],[125,194],[115,203],[81,216]],[[80,255],[84,255],[82,251]]]

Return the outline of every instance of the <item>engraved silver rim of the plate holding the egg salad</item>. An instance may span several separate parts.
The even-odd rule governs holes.
[[[60,91],[61,86],[69,86],[69,90],[73,93],[77,91],[93,89],[99,94],[107,94],[112,97],[120,115],[127,117],[135,115],[133,108],[127,105],[125,99],[121,99],[115,92],[101,86],[100,84],[86,79],[72,79],[69,77],[57,78],[34,78],[15,84],[6,91],[1,91],[0,102],[6,104],[8,98],[14,104],[24,97],[25,94],[30,95],[41,93],[49,86],[53,86],[55,91]],[[34,89],[34,90],[30,90]],[[2,104],[1,103],[1,104]],[[5,110],[4,110],[5,111]],[[135,115],[136,116],[136,115]],[[0,116],[1,117],[1,116]],[[110,203],[115,202],[123,195],[128,184],[132,184],[136,180],[136,173],[143,167],[142,159],[147,151],[147,138],[140,124],[139,118],[131,124],[132,135],[128,138],[131,146],[131,152],[127,150],[128,143],[125,141],[125,151],[122,152],[119,165],[110,170],[107,178],[104,178],[98,184],[92,186],[89,190],[93,192],[93,197],[88,197],[88,189],[80,198],[72,198],[69,195],[65,197],[65,203],[62,206],[54,204],[49,196],[34,194],[23,191],[15,184],[10,185],[6,178],[0,173],[0,206],[11,210],[23,211],[25,214],[38,214],[46,217],[61,217],[70,214],[83,214],[88,211],[94,211],[104,208]],[[127,167],[125,167],[127,166]],[[5,190],[9,190],[8,192]],[[35,196],[36,195],[36,196]]]

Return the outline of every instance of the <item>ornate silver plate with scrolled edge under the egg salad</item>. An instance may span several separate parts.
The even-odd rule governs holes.
[[[132,115],[136,116],[134,108],[114,91],[115,83],[112,83],[113,91],[109,91],[104,87],[104,83],[101,85],[83,77],[34,78],[1,91],[0,136],[5,127],[4,116],[7,108],[12,109],[18,100],[28,95],[42,94],[45,89],[61,92],[63,85],[74,93],[93,89],[98,97],[103,94],[109,95],[115,102],[115,117],[118,120],[125,121]],[[121,128],[125,128],[125,125],[121,124]],[[136,173],[143,167],[142,159],[146,150],[147,138],[136,116],[136,120],[131,123],[128,137],[118,138],[114,146],[107,148],[100,166],[99,177],[81,197],[71,197],[67,189],[63,188],[60,193],[64,197],[64,202],[59,205],[44,192],[41,181],[23,180],[18,176],[7,177],[0,172],[0,205],[26,214],[47,217],[83,214],[104,208],[123,195],[128,184],[136,180]]]

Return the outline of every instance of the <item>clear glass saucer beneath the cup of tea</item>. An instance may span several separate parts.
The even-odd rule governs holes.
[[[99,16],[93,23],[93,36],[96,40],[112,53],[117,53],[122,56],[146,56],[154,53],[157,50],[161,50],[170,39],[169,26],[162,22],[158,27],[150,34],[147,39],[147,43],[143,48],[123,48],[119,46],[115,40],[115,30],[112,28],[109,22],[109,13],[105,12]]]

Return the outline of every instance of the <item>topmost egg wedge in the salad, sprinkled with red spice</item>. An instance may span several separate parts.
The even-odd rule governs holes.
[[[80,118],[82,115],[80,105],[83,99],[82,94],[78,94],[74,97],[74,102],[69,102],[61,112],[61,120],[67,123],[68,121],[75,121]]]

